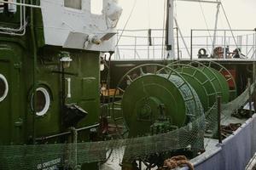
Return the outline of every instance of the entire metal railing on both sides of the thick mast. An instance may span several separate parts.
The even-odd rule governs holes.
[[[231,36],[230,30],[218,30],[214,45],[214,30],[194,29],[190,36],[183,38],[178,35],[177,29],[174,31],[175,59],[198,59],[198,51],[201,48],[206,49],[209,58],[213,49],[218,47],[223,48],[223,59],[232,58],[236,48],[241,49],[245,59],[256,59],[255,30],[233,30],[236,37]],[[114,59],[168,59],[165,30],[119,30],[117,35],[119,44],[116,46]]]

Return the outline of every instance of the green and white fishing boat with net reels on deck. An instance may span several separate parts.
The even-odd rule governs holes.
[[[1,0],[0,169],[244,169],[255,30],[219,30],[222,3],[200,3],[217,5],[216,27],[183,37],[172,0],[165,28],[120,31],[116,0]],[[252,32],[246,45],[234,31]]]

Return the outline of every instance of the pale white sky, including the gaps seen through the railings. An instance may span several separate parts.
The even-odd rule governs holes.
[[[137,29],[163,29],[163,21],[164,21],[164,4],[166,0],[119,0],[119,5],[123,8],[123,14],[119,19],[118,29],[124,29],[126,20],[128,19],[129,14],[131,13],[131,8],[133,7],[134,2],[137,1],[136,8],[134,9],[131,19],[129,20],[127,26],[125,27],[126,30],[137,30]],[[212,0],[214,1],[214,0]],[[231,28],[233,30],[242,29],[242,30],[253,30],[256,28],[256,0],[222,0],[224,10],[228,15]],[[185,38],[185,42],[190,48],[190,30],[191,29],[214,29],[214,22],[215,22],[215,15],[217,11],[217,4],[213,3],[193,3],[193,2],[183,2],[183,1],[175,1],[174,2],[175,10],[174,15],[177,18],[177,22],[179,25],[180,30],[183,32],[183,37]],[[207,26],[204,20],[204,16],[201,11],[201,7],[203,8],[203,13],[206,16]],[[175,26],[175,25],[174,25]],[[227,21],[224,17],[224,13],[222,8],[220,9],[219,20],[218,20],[218,29],[229,29]],[[176,31],[174,32],[176,35]],[[199,48],[207,48],[208,53],[211,53],[211,43],[212,38],[206,39],[207,37],[196,37],[196,36],[213,36],[213,31],[195,31],[193,33],[193,55],[197,56],[197,51]],[[245,35],[252,34],[251,37],[249,36],[246,40]],[[137,38],[135,42],[134,38],[125,37],[127,36],[139,36],[144,38]],[[162,31],[152,31],[153,37],[162,37],[164,34]],[[233,41],[234,38],[238,45],[245,43],[248,41],[249,44],[253,44],[253,31],[234,31],[235,37],[231,36],[231,32],[226,32],[226,41],[229,44],[224,44],[224,31],[218,31],[217,33],[217,40],[215,45],[218,46],[230,46],[230,50],[236,48],[234,46],[236,43]],[[237,36],[242,36],[241,41],[238,41]],[[147,54],[147,50],[145,50],[145,46],[148,44],[148,31],[139,31],[139,32],[127,32],[125,31],[123,37],[119,41],[119,56],[122,58],[134,58],[134,56],[140,55],[140,57],[144,56],[162,56],[162,49],[161,45],[164,43],[162,38],[154,38],[153,44],[160,44],[160,46],[156,45],[153,51],[150,51],[150,54]],[[180,41],[180,50],[182,50],[183,56],[187,56],[186,48],[184,44]],[[138,46],[136,48],[137,54],[134,53],[135,49],[132,48],[134,44],[142,45],[141,47]],[[125,49],[125,45],[130,45]],[[195,45],[199,44],[199,45]],[[207,46],[201,45],[207,44]],[[177,46],[175,46],[177,47]],[[242,46],[241,46],[242,47]],[[253,47],[253,46],[250,46]],[[141,49],[139,49],[141,48]],[[248,56],[253,54],[255,48],[251,50],[251,48],[241,48],[243,53],[246,53]],[[145,52],[146,51],[146,52]],[[177,52],[177,49],[176,49]],[[154,54],[155,53],[155,54]],[[256,53],[254,53],[255,55]],[[255,56],[256,58],[256,56]]]

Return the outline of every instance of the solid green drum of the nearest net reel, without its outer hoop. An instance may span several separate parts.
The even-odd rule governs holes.
[[[122,111],[129,135],[137,136],[150,133],[150,126],[161,117],[166,117],[173,126],[183,127],[201,114],[202,107],[195,91],[181,77],[148,74],[125,89]]]

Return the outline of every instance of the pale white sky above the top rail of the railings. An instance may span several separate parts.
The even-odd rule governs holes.
[[[119,0],[123,14],[119,20],[119,29],[123,29],[135,0]],[[137,0],[126,29],[163,28],[164,2],[166,0]],[[226,14],[233,29],[253,29],[256,27],[256,0],[223,0]],[[216,4],[201,3],[207,17],[209,29],[214,28]],[[185,35],[191,28],[206,29],[200,3],[177,1],[175,3],[177,21]],[[149,7],[149,8],[148,8]],[[228,28],[221,11],[218,28]]]

